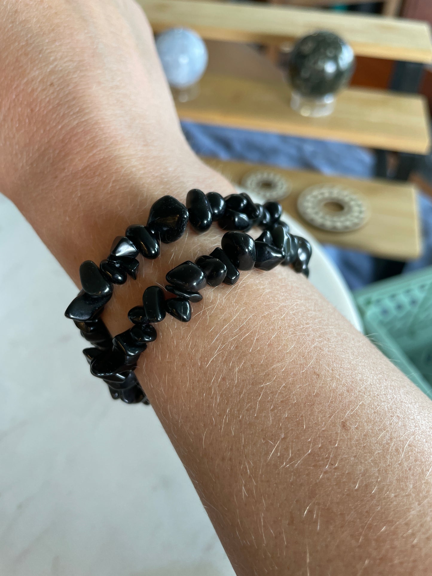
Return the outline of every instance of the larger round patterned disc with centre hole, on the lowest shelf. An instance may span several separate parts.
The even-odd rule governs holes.
[[[324,204],[335,202],[343,209],[329,213]],[[319,184],[306,188],[297,198],[300,215],[316,228],[331,232],[352,232],[363,226],[368,218],[365,201],[358,195],[334,184]]]

